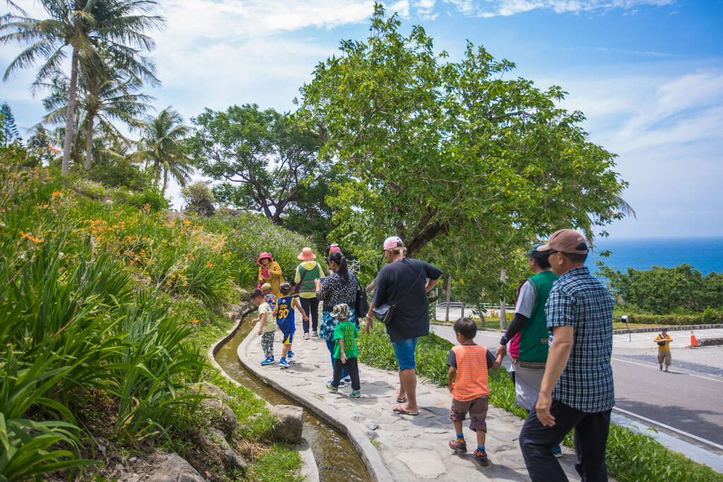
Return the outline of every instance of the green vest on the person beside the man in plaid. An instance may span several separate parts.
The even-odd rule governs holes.
[[[520,333],[520,365],[527,368],[544,368],[549,337],[544,305],[547,303],[552,283],[557,280],[557,275],[552,271],[543,271],[527,279],[535,289],[535,304],[532,307],[530,321]]]

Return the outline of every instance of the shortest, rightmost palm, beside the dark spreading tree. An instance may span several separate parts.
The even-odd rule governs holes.
[[[194,171],[192,159],[181,146],[181,141],[191,132],[191,128],[183,122],[181,114],[168,106],[159,112],[158,116],[147,116],[146,120],[140,123],[142,148],[132,155],[132,160],[145,161],[146,165],[150,163],[156,186],[163,177],[163,194],[166,193],[169,176],[173,176],[178,184],[185,186]]]

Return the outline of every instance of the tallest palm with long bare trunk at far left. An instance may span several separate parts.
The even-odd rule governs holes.
[[[70,166],[80,59],[97,59],[100,43],[104,43],[114,65],[155,79],[153,64],[136,56],[138,51],[150,51],[154,46],[153,40],[143,32],[165,23],[161,17],[144,14],[157,3],[155,0],[40,0],[49,15],[45,20],[14,14],[0,17],[0,44],[30,43],[9,64],[4,80],[15,70],[43,58],[45,63],[36,75],[36,80],[42,82],[60,69],[67,58],[66,47],[72,50],[63,142],[64,175]]]

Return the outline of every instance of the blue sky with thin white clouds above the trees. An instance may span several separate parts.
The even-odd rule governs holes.
[[[16,0],[17,1],[17,0]],[[30,14],[34,0],[17,1]],[[258,103],[279,110],[342,38],[368,33],[368,0],[163,0],[153,36],[157,108]],[[617,153],[638,218],[615,238],[723,236],[723,0],[396,0],[403,28],[421,24],[452,59],[467,39],[517,64],[513,75],[561,85],[590,138]],[[0,51],[4,69],[18,52]],[[0,85],[20,126],[35,124],[33,71]],[[177,193],[177,188],[172,189]]]

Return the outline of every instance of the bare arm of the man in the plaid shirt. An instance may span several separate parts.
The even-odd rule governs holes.
[[[555,417],[549,413],[552,405],[552,390],[555,389],[557,380],[560,379],[562,371],[568,364],[570,351],[573,350],[575,330],[570,326],[552,328],[552,345],[547,353],[547,364],[545,365],[540,394],[535,405],[537,418],[542,425],[554,426]]]

